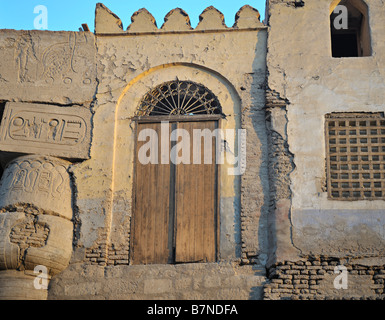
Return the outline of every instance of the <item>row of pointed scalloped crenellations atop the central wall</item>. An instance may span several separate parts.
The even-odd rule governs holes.
[[[124,30],[120,18],[111,12],[104,4],[98,3],[95,11],[95,34],[132,34],[153,32],[194,32],[258,29],[265,27],[260,22],[258,10],[249,5],[243,6],[235,15],[232,27],[225,24],[223,14],[213,6],[206,8],[199,16],[199,23],[194,29],[190,17],[181,8],[171,10],[164,18],[164,23],[158,28],[155,18],[146,9],[136,11],[131,17],[131,24]]]

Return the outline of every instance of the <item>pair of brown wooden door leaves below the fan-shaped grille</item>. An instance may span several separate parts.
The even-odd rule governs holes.
[[[131,263],[165,264],[216,260],[216,140],[211,138],[212,145],[209,148],[203,138],[200,141],[193,139],[193,131],[209,129],[212,132],[217,125],[217,121],[170,122],[170,136],[171,131],[177,128],[189,133],[190,162],[176,164],[175,159],[170,158],[169,164],[161,164],[161,123],[138,123],[138,132],[152,129],[158,133],[156,143],[159,161],[158,164],[142,164],[138,159],[138,151],[146,142],[137,142]],[[198,150],[197,146],[201,151],[201,161],[194,164],[193,155]],[[173,143],[170,143],[169,151],[172,147]],[[207,161],[210,158],[207,157],[207,152],[211,161]]]

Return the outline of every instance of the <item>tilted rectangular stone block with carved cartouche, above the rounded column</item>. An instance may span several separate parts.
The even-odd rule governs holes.
[[[88,159],[91,111],[9,102],[0,127],[0,150]]]

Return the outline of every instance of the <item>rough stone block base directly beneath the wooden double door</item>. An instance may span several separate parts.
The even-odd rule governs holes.
[[[50,282],[48,299],[262,300],[265,269],[239,263],[70,265]]]

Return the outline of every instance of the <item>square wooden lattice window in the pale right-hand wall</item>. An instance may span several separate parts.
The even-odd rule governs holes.
[[[383,113],[333,113],[325,120],[329,198],[385,199]]]

